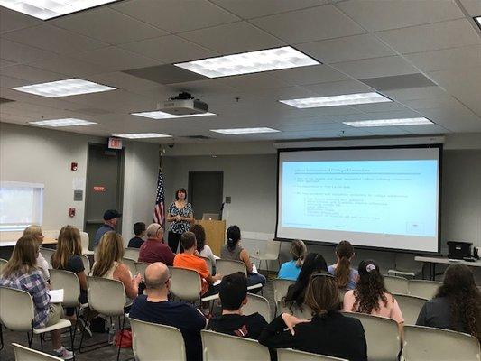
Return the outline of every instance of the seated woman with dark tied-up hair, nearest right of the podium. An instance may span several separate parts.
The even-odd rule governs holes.
[[[239,243],[241,240],[240,228],[237,226],[231,226],[227,228],[227,245],[223,245],[220,251],[220,258],[229,259],[234,261],[242,261],[247,268],[247,286],[253,286],[254,284],[261,283],[264,285],[265,277],[260,273],[254,273],[252,268],[251,259],[247,251],[242,248]],[[257,291],[254,292],[258,292]]]

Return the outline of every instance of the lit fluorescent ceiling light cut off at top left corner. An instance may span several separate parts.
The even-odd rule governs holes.
[[[0,5],[19,13],[48,20],[57,16],[79,12],[117,0],[0,0]]]

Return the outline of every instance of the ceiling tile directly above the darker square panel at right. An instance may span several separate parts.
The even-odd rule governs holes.
[[[419,70],[400,56],[367,60],[343,61],[332,65],[333,68],[347,73],[356,79],[389,77],[418,73]]]

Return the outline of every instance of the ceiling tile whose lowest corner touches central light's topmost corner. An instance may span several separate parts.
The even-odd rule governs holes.
[[[323,5],[251,21],[288,43],[314,42],[365,33],[333,5]]]

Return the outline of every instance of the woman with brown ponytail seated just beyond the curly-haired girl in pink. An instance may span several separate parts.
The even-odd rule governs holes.
[[[339,242],[336,247],[338,262],[328,266],[328,272],[336,276],[338,288],[341,290],[354,290],[356,288],[359,273],[351,268],[351,262],[355,256],[353,246],[347,241]]]

